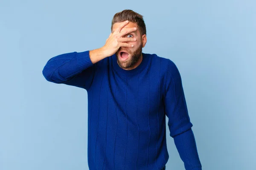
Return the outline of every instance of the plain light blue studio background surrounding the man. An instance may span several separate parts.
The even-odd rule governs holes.
[[[102,47],[123,9],[144,16],[143,52],[179,68],[203,170],[255,170],[254,0],[1,0],[0,170],[88,169],[87,92],[42,69]],[[184,170],[169,129],[167,145],[167,170]]]

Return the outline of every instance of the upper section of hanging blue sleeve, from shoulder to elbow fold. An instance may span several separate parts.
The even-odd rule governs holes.
[[[164,105],[172,138],[193,126],[186,106],[180,73],[175,63],[170,59],[165,73]]]

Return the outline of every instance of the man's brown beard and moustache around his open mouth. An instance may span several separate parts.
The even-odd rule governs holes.
[[[126,61],[122,61],[119,59],[119,51],[122,51],[122,50],[127,51],[129,54],[129,58]],[[117,63],[121,68],[132,68],[139,61],[141,54],[142,54],[142,42],[134,52],[131,52],[129,49],[126,50],[120,47],[119,50],[116,52]]]

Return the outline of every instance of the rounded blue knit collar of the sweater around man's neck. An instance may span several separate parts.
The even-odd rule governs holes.
[[[142,53],[143,58],[142,58],[140,65],[138,65],[136,68],[134,68],[132,70],[125,70],[118,65],[116,57],[117,57],[116,54],[112,55],[113,68],[115,69],[115,71],[117,71],[118,73],[123,74],[125,76],[132,76],[134,74],[140,73],[146,67],[146,65],[148,63],[148,59],[149,59],[148,54]]]

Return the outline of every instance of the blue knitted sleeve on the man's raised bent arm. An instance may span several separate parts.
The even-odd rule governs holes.
[[[89,51],[75,51],[52,57],[44,66],[42,73],[49,82],[88,90],[93,81],[96,65],[97,63],[91,62]]]

